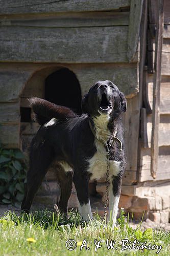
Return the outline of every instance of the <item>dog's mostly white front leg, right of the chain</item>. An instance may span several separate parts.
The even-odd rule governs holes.
[[[122,187],[122,177],[113,176],[109,186],[109,212],[107,221],[112,223],[112,227],[116,224],[116,217],[118,211],[118,202],[120,198]]]

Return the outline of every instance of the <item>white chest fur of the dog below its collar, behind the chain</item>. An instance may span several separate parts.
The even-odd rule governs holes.
[[[100,142],[95,142],[100,143]],[[99,180],[102,177],[106,175],[107,172],[107,157],[106,157],[106,150],[104,148],[104,145],[100,143],[100,147],[98,145],[97,152],[94,154],[94,156],[89,159],[89,168],[88,172],[91,173],[91,178],[90,179],[96,179]],[[117,176],[120,172],[120,162],[119,161],[114,161],[110,160],[110,170],[109,170],[109,175],[112,176]]]

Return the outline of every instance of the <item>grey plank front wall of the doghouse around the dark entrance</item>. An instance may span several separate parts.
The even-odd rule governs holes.
[[[66,67],[76,74],[82,95],[100,79],[112,80],[125,93],[124,184],[136,182],[142,3],[69,0],[35,5],[34,1],[0,0],[0,132],[5,147],[20,147],[20,105],[27,106],[27,97],[43,97],[45,77]],[[21,132],[29,135],[30,129],[23,123]]]

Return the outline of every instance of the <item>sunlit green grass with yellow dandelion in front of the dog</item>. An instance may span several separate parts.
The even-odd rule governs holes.
[[[66,249],[66,241],[70,239],[77,242],[77,248],[74,250]],[[83,246],[81,250],[82,243],[86,245],[84,239],[87,241],[87,249]],[[94,239],[101,240],[102,247],[96,249],[98,241]],[[115,240],[113,249],[107,249],[107,239],[109,243]],[[137,239],[138,246],[146,241],[145,244],[156,244],[157,248],[121,250],[123,239],[132,242]],[[98,215],[88,224],[83,223],[74,211],[69,213],[67,220],[47,210],[36,211],[34,215],[29,216],[17,216],[9,211],[0,219],[0,255],[156,255],[161,245],[159,254],[169,255],[169,232],[151,228],[141,231],[141,223],[133,229],[124,211],[114,230],[111,225],[105,225]]]

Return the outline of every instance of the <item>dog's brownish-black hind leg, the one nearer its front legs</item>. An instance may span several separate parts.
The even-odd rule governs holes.
[[[58,182],[60,185],[59,210],[67,215],[68,200],[72,193],[72,171],[65,172],[62,168],[58,171]]]

